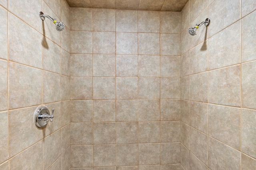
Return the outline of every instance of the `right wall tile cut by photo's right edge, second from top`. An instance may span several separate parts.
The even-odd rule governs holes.
[[[250,2],[251,5],[252,3],[255,4],[256,2]],[[242,62],[256,60],[256,50],[254,48],[256,45],[256,37],[254,35],[256,24],[252,21],[255,17],[256,12],[252,12],[248,16],[242,18]]]

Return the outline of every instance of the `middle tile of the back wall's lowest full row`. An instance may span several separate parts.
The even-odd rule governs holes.
[[[138,144],[116,145],[116,165],[138,165]]]

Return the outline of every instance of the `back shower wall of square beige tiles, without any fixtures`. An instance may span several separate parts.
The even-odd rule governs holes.
[[[70,8],[71,169],[180,169],[180,18]]]

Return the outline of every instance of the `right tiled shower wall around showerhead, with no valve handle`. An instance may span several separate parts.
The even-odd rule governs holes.
[[[256,169],[255,10],[255,0],[189,0],[181,12],[185,170]]]

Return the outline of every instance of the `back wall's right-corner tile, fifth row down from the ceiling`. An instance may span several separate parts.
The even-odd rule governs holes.
[[[180,120],[180,100],[161,100],[161,121]]]

